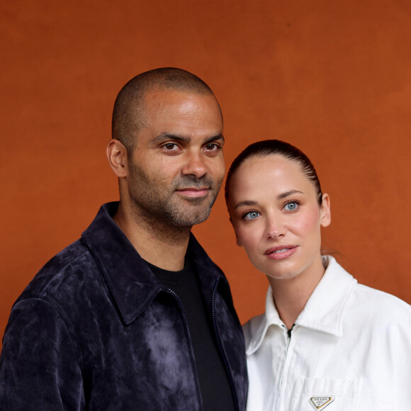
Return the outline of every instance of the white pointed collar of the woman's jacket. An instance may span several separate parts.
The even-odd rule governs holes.
[[[333,257],[322,257],[322,264],[326,267],[325,274],[304,310],[295,320],[295,325],[342,337],[344,313],[356,279],[348,274]],[[252,325],[252,338],[247,347],[247,354],[252,354],[259,349],[270,325],[283,326],[274,304],[271,287],[266,295],[266,313],[258,317]]]

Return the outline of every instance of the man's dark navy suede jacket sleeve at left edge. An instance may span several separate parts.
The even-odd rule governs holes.
[[[0,358],[0,410],[83,410],[76,348],[64,319],[40,298],[11,310]]]

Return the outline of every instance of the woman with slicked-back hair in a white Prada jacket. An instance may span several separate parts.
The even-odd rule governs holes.
[[[286,142],[247,147],[225,186],[237,244],[266,274],[266,313],[244,325],[248,411],[411,410],[411,307],[321,256],[330,197]]]

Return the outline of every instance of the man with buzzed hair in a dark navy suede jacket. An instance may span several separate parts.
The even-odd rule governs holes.
[[[223,180],[223,118],[181,69],[118,94],[108,161],[120,202],[51,259],[4,335],[1,410],[244,410],[240,322],[191,235]]]

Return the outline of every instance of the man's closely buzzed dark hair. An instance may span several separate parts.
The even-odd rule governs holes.
[[[213,94],[199,77],[183,69],[164,67],[138,74],[120,90],[114,103],[112,137],[120,140],[131,155],[137,134],[145,127],[144,97],[152,89]]]

